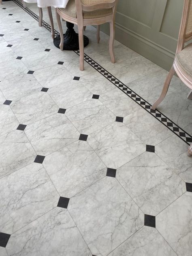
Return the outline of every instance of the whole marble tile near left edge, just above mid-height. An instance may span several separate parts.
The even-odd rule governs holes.
[[[20,124],[30,124],[58,112],[59,108],[46,92],[37,92],[17,99],[11,109]]]

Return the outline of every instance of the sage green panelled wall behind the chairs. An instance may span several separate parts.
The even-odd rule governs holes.
[[[183,0],[119,0],[116,39],[170,69],[177,46]],[[109,34],[109,26],[102,25]]]

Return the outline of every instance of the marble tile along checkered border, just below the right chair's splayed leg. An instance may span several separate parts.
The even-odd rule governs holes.
[[[173,135],[173,132],[144,109],[126,116],[124,124],[147,145],[156,145]]]

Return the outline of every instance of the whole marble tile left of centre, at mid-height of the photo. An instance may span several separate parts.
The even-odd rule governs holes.
[[[64,114],[56,113],[29,124],[25,133],[41,156],[48,154],[79,139],[79,132]]]

